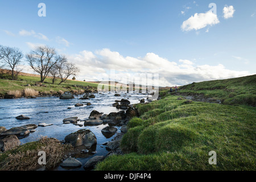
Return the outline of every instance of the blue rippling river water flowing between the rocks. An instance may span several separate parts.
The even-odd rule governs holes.
[[[64,118],[78,117],[81,120],[88,119],[92,110],[97,110],[104,114],[109,114],[111,112],[118,112],[121,109],[116,109],[112,106],[115,100],[121,100],[125,98],[131,102],[131,104],[139,103],[142,98],[147,98],[147,95],[141,93],[119,93],[121,96],[114,96],[115,93],[95,93],[95,98],[90,98],[89,100],[79,100],[80,96],[75,96],[71,100],[60,100],[59,97],[48,96],[48,97],[37,97],[37,98],[15,98],[15,99],[1,99],[0,100],[0,126],[6,127],[6,129],[11,129],[12,127],[18,127],[27,124],[39,123],[52,123],[51,126],[37,127],[34,133],[30,133],[25,138],[20,139],[22,144],[27,142],[32,142],[38,140],[42,136],[53,137],[59,140],[64,140],[65,136],[71,134],[80,129],[91,130],[97,138],[97,145],[90,148],[88,154],[76,155],[75,158],[82,162],[82,166],[95,155],[106,155],[108,150],[102,145],[102,143],[109,142],[118,133],[120,133],[120,128],[117,127],[117,132],[110,136],[104,136],[101,130],[108,126],[108,124],[96,125],[96,126],[78,126],[70,124],[63,124]],[[92,105],[86,106],[86,103],[90,102]],[[76,103],[82,103],[84,106],[75,107]],[[71,109],[67,109],[71,107]],[[27,120],[16,119],[18,115],[25,115],[30,117]],[[84,124],[84,122],[77,122]],[[84,148],[80,148],[84,149]],[[96,152],[96,154],[92,153]],[[67,169],[62,167],[57,167],[55,170],[82,170],[83,168]]]

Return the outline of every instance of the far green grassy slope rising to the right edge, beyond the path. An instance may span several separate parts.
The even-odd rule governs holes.
[[[256,75],[184,85],[179,93],[222,100],[226,105],[256,106]]]

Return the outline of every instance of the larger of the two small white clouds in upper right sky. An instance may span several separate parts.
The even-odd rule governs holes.
[[[213,26],[218,23],[220,23],[220,21],[218,20],[217,15],[212,11],[208,11],[207,13],[196,13],[194,16],[191,16],[183,22],[181,30],[200,30],[201,28]]]

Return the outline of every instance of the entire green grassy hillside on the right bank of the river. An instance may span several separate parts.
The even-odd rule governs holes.
[[[256,108],[247,106],[255,99],[255,80],[205,81],[179,90],[226,105],[187,101],[167,90],[159,101],[138,104],[140,117],[131,119],[121,140],[126,154],[109,156],[96,170],[255,170]],[[216,165],[209,164],[210,151]]]

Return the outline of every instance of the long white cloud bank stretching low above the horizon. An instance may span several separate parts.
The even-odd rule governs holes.
[[[68,59],[79,66],[80,80],[101,80],[108,77],[110,69],[115,69],[115,78],[125,81],[127,76],[135,73],[158,73],[159,85],[184,85],[191,82],[224,79],[250,75],[247,71],[232,71],[224,65],[195,65],[190,60],[169,61],[155,53],[149,52],[143,57],[122,56],[110,49],[81,51],[68,55]]]

